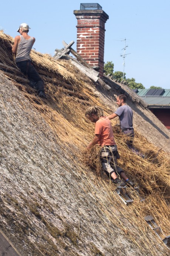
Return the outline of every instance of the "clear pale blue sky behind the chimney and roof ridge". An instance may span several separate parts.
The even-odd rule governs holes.
[[[105,57],[112,61],[114,71],[123,71],[120,55],[127,39],[125,58],[126,78],[135,78],[146,88],[151,85],[170,89],[170,1],[169,0],[29,0],[2,1],[0,29],[10,36],[21,23],[27,23],[29,34],[36,38],[35,49],[54,55],[55,48],[63,47],[62,40],[76,50],[76,24],[74,10],[81,3],[99,3],[109,15],[105,24]]]

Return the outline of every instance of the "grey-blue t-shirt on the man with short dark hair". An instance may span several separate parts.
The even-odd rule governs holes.
[[[133,111],[128,105],[120,106],[115,114],[119,116],[120,126],[122,129],[133,128]]]

